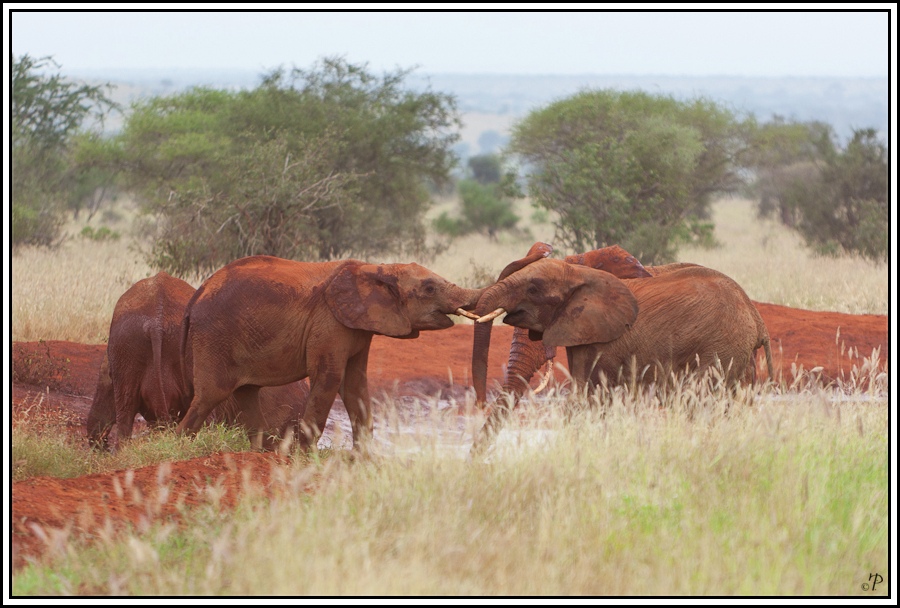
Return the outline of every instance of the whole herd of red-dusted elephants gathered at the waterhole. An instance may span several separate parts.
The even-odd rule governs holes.
[[[618,246],[565,260],[536,243],[496,283],[465,289],[418,264],[359,260],[236,260],[196,290],[164,272],[116,304],[106,356],[87,419],[88,439],[109,447],[131,436],[135,416],[178,423],[192,435],[206,422],[243,426],[254,449],[289,436],[315,446],[340,394],[353,446],[373,429],[366,376],[375,334],[416,338],[475,321],[472,377],[487,402],[493,319],[515,327],[503,389],[517,400],[534,373],[566,348],[576,385],[666,381],[721,365],[728,385],[755,380],[769,336],[732,279],[696,264],[644,267]],[[602,378],[602,380],[601,380]],[[502,422],[494,408],[475,441]]]

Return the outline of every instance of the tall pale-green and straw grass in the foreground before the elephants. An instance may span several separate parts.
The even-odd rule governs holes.
[[[537,421],[514,418],[486,460],[431,434],[412,440],[416,452],[297,460],[272,475],[278,498],[200,511],[180,531],[160,522],[100,547],[70,542],[51,566],[17,574],[13,591],[886,593],[861,587],[887,573],[886,399],[695,397],[699,409],[660,410],[619,393],[604,415],[566,420],[547,414],[560,397]],[[528,433],[542,440],[510,447]]]

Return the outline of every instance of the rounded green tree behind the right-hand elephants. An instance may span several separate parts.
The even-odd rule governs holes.
[[[530,113],[509,151],[563,246],[619,244],[660,263],[685,235],[709,234],[712,196],[740,183],[741,147],[734,116],[711,101],[598,90]]]

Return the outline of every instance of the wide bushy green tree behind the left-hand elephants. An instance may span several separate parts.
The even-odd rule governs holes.
[[[90,156],[125,172],[158,218],[157,268],[424,253],[429,187],[449,181],[459,117],[453,97],[404,87],[408,73],[325,59],[248,91],[150,99]]]

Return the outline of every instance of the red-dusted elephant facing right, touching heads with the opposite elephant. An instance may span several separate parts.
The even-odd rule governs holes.
[[[415,338],[451,327],[449,314],[473,318],[465,309],[481,291],[418,264],[266,255],[231,262],[199,287],[182,321],[192,400],[177,431],[196,432],[236,391],[309,378],[301,447],[315,446],[340,393],[358,449],[373,428],[366,376],[372,337]]]

